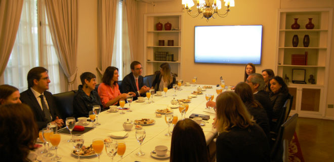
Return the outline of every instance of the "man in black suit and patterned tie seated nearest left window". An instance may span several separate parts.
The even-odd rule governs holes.
[[[49,89],[48,70],[44,67],[34,67],[29,70],[28,90],[22,92],[20,100],[30,106],[37,121],[38,129],[47,127],[48,123],[57,124],[58,128],[64,125],[63,119],[58,118],[56,104]]]

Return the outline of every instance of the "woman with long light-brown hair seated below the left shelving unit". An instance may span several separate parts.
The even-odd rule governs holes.
[[[162,63],[160,65],[160,71],[155,72],[155,78],[152,83],[151,89],[155,91],[163,91],[164,87],[168,89],[173,88],[173,84],[176,84],[176,78],[171,72],[171,66],[169,63]]]

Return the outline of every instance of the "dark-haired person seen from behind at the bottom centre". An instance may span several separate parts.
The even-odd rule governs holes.
[[[192,119],[186,118],[176,123],[170,161],[210,161],[202,128]]]

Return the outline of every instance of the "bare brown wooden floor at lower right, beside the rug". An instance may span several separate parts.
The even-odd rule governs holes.
[[[334,121],[299,117],[297,137],[306,162],[334,161]]]

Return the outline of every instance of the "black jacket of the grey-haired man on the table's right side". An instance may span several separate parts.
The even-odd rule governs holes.
[[[272,119],[273,115],[273,106],[271,105],[271,100],[269,98],[269,94],[266,91],[259,91],[258,93],[254,94],[254,99],[259,101],[262,107],[266,110],[267,116],[269,119],[269,123]]]

